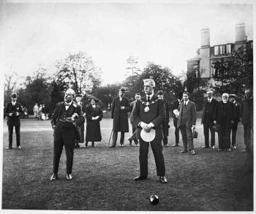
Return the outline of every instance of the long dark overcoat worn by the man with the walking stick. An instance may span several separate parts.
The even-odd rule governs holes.
[[[120,107],[123,106],[124,110]],[[121,102],[116,96],[112,102],[111,118],[113,119],[113,131],[129,132],[128,112],[131,111],[129,99],[123,96]]]

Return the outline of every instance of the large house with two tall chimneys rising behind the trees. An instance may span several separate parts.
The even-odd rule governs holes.
[[[194,58],[187,60],[187,71],[195,69],[195,77],[209,78],[213,83],[214,77],[221,72],[215,64],[222,58],[239,47],[245,47],[246,51],[253,50],[253,41],[247,41],[246,25],[243,21],[236,24],[236,42],[210,46],[210,29],[208,27],[201,30],[201,47],[197,49]],[[201,72],[201,74],[200,74]]]

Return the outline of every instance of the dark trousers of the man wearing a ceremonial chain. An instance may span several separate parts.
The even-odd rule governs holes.
[[[157,176],[165,176],[165,159],[162,154],[162,139],[155,139],[150,142],[154,160],[157,166]],[[149,142],[140,139],[140,175],[148,176],[148,147]]]

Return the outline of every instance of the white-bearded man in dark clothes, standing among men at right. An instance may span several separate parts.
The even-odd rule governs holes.
[[[217,103],[217,107],[214,111],[214,124],[219,124],[220,129],[218,131],[219,139],[219,151],[230,151],[230,133],[231,126],[236,120],[236,110],[234,104],[229,102],[228,94],[222,94],[222,101]]]

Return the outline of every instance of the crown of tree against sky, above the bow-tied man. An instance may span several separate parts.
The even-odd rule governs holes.
[[[102,72],[97,69],[90,56],[86,53],[69,54],[67,58],[55,63],[57,72],[53,81],[64,88],[73,88],[80,93],[91,92],[94,85],[100,84]]]

